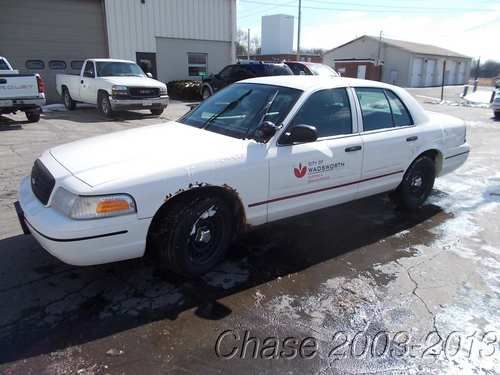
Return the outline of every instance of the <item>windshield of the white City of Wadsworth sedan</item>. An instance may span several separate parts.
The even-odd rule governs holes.
[[[280,125],[302,91],[237,83],[203,101],[179,122],[234,138],[252,138],[263,121]]]

